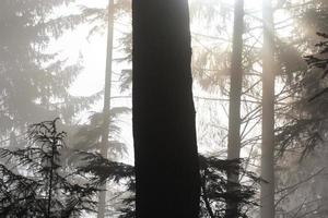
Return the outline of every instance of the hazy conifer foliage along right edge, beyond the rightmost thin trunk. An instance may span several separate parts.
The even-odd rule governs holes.
[[[293,101],[284,107],[286,125],[277,134],[283,155],[277,167],[277,211],[284,217],[327,217],[327,5],[308,1],[298,15],[302,52],[312,55],[304,57],[307,71],[293,72]]]

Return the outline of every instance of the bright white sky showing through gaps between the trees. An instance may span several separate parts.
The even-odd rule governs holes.
[[[233,7],[233,0],[221,0],[229,7]],[[203,0],[204,3],[213,2],[213,0]],[[108,0],[78,0],[77,5],[87,5],[96,8],[106,8]],[[245,0],[246,13],[250,12],[261,17],[261,1],[260,0]],[[274,3],[273,3],[274,4]],[[75,11],[74,7],[60,9],[59,13],[69,14]],[[247,15],[245,16],[247,17]],[[282,21],[288,17],[288,13],[284,11],[277,11],[276,21]],[[118,36],[120,31],[125,31],[121,25],[115,25],[115,36]],[[196,27],[198,28],[198,27]],[[75,62],[79,56],[82,55],[83,71],[77,78],[75,83],[70,88],[72,95],[75,96],[89,96],[96,92],[99,92],[104,87],[104,74],[105,74],[105,59],[106,59],[106,29],[104,34],[95,34],[91,38],[87,38],[90,27],[83,25],[78,27],[75,31],[65,34],[61,38],[54,41],[50,46],[50,50],[56,50],[60,53],[60,57],[68,58],[70,62]],[[194,29],[195,31],[195,29]],[[202,32],[200,32],[202,33]],[[288,35],[288,32],[285,32]],[[115,44],[115,43],[114,43]],[[118,53],[114,53],[114,58],[119,57]],[[119,65],[114,63],[113,70],[115,73],[119,73],[126,65]],[[118,83],[115,82],[117,77],[114,76],[114,83],[112,88],[112,96],[121,95],[118,92]],[[197,93],[197,92],[195,92]],[[115,99],[112,102],[113,107],[117,106],[130,106],[129,99]],[[94,110],[102,110],[102,100],[94,107]],[[131,122],[130,117],[122,119],[122,135],[124,141],[129,145],[129,153],[132,153],[132,137],[131,137]],[[128,160],[132,161],[131,158]]]

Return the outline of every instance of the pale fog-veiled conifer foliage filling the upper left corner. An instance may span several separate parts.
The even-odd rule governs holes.
[[[47,52],[51,37],[72,28],[74,20],[54,16],[74,0],[4,0],[0,3],[0,133],[24,132],[27,123],[60,116],[66,123],[98,95],[74,97],[69,86],[81,70]]]

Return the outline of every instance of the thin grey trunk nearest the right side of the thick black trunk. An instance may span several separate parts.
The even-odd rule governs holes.
[[[227,159],[239,159],[241,157],[241,96],[243,81],[243,33],[244,33],[244,0],[235,1],[234,12],[234,35],[233,51],[231,63],[231,84],[230,84],[230,112],[229,112],[229,140]],[[237,169],[237,168],[235,168]],[[238,171],[227,172],[226,218],[236,218],[239,211],[237,197],[239,191]]]

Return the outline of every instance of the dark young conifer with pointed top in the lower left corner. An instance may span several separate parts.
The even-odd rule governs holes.
[[[86,178],[70,172],[60,162],[66,133],[54,121],[33,124],[25,148],[0,148],[4,164],[15,164],[19,172],[0,165],[1,217],[73,217],[94,211],[97,193]]]

